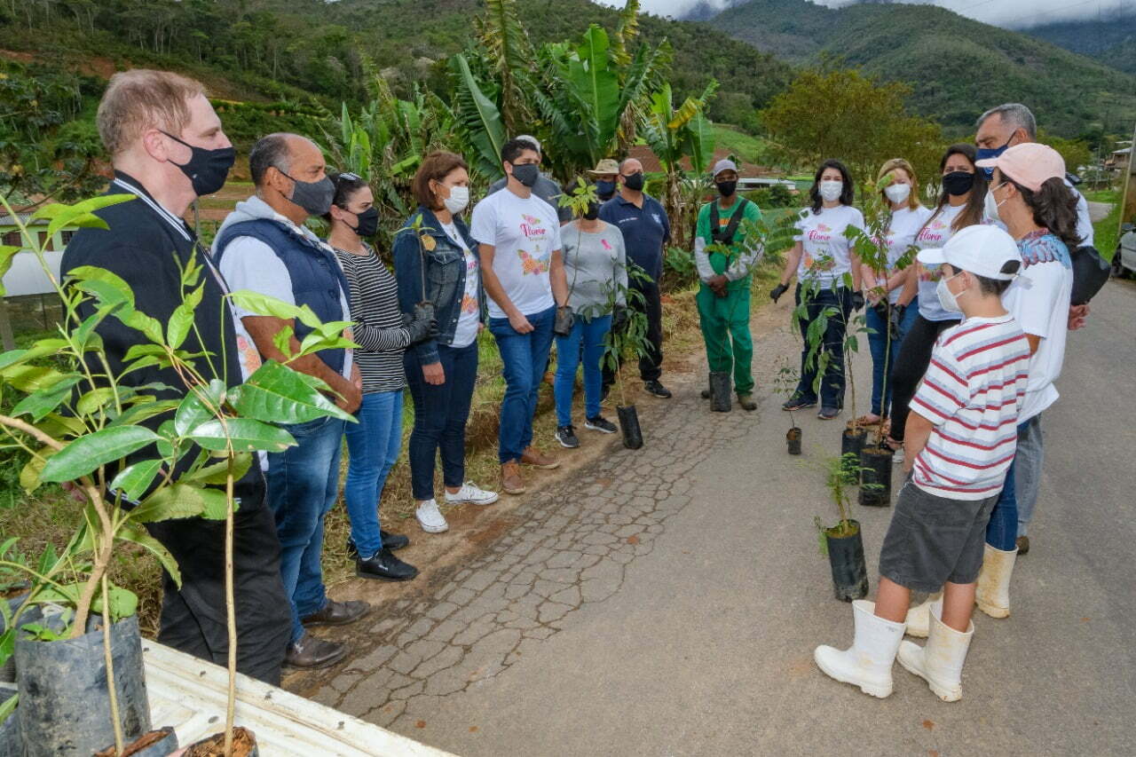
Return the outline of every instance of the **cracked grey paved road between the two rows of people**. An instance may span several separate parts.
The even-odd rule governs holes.
[[[794,349],[758,340],[759,385]],[[316,697],[461,755],[1136,754],[1134,366],[1136,286],[1113,282],[1070,339],[1034,549],[1013,616],[975,619],[961,702],[897,666],[884,701],[815,668],[852,627],[808,467],[840,426],[804,418],[790,458],[778,398],[711,414],[693,375],[644,407],[643,450],[526,500],[429,596],[383,608]],[[869,572],[889,513],[857,507]]]

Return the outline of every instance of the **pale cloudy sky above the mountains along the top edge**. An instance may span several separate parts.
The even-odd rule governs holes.
[[[729,0],[708,0],[711,5],[726,6]],[[813,0],[818,5],[838,7],[854,0]],[[942,6],[987,24],[1020,27],[1046,24],[1070,18],[1094,18],[1127,8],[1136,9],[1136,0],[908,0]],[[682,15],[696,0],[643,0],[643,9],[665,16]],[[621,6],[619,0],[608,5]]]

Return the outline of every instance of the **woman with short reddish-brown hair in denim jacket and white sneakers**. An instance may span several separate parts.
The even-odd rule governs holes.
[[[434,498],[434,459],[442,454],[446,504],[492,505],[496,492],[466,481],[466,421],[477,380],[477,334],[485,319],[477,243],[458,217],[469,203],[466,161],[452,152],[423,160],[412,184],[418,209],[394,238],[399,307],[414,317],[433,308],[438,334],[407,349],[403,365],[415,402],[410,484],[418,524],[450,526]]]

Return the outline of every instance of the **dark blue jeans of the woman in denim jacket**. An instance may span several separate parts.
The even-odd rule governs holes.
[[[445,381],[427,384],[417,355],[402,360],[415,402],[415,427],[407,446],[410,489],[420,501],[434,499],[434,460],[442,455],[442,482],[460,486],[466,481],[466,421],[477,381],[477,342],[460,348],[437,344]]]

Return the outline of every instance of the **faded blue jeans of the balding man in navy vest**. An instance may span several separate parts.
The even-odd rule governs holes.
[[[300,618],[327,604],[320,554],[324,517],[340,489],[344,422],[317,418],[284,425],[296,446],[268,456],[268,505],[281,540],[281,577],[292,602],[292,641],[303,635]]]

